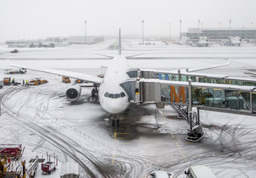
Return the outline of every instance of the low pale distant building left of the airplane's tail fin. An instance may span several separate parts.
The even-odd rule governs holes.
[[[86,36],[86,43],[95,44],[104,41],[104,37],[101,36]],[[67,38],[68,43],[73,44],[84,44],[85,36],[70,36]]]

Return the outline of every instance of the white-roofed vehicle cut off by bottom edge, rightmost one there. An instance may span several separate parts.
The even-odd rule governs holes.
[[[185,171],[186,178],[216,178],[210,167],[205,165],[191,166],[188,171]]]

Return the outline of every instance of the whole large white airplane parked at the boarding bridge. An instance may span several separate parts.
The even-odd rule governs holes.
[[[99,54],[102,56],[107,56],[104,54]],[[141,54],[136,54],[133,56],[138,56]],[[69,72],[57,69],[36,69],[33,67],[20,66],[15,64],[9,64],[12,67],[20,67],[22,69],[31,69],[39,72],[46,72],[53,75],[60,75],[75,78],[76,80],[83,80],[87,82],[93,82],[94,84],[99,85],[99,103],[102,108],[108,113],[116,116],[117,114],[123,113],[128,106],[130,106],[131,102],[128,98],[128,93],[120,86],[120,84],[128,80],[130,77],[126,73],[128,69],[130,69],[127,58],[133,56],[123,56],[121,54],[121,38],[120,38],[120,29],[119,29],[119,47],[118,47],[118,55],[113,57],[110,66],[107,68],[105,72],[104,78],[96,77],[94,75],[86,75],[78,72]],[[112,56],[107,56],[111,57]],[[230,62],[230,61],[229,61]],[[229,64],[228,62],[228,64]],[[226,66],[228,64],[219,64],[215,67]],[[207,67],[204,69],[210,69],[215,67]],[[202,69],[198,69],[202,70]],[[194,71],[190,71],[194,72]],[[76,101],[80,97],[81,87],[78,83],[73,83],[67,88],[65,92],[65,96],[68,101]]]

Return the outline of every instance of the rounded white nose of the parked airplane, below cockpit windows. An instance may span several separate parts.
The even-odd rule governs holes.
[[[119,114],[125,111],[129,106],[129,103],[125,98],[107,98],[102,103],[102,108],[110,114]]]

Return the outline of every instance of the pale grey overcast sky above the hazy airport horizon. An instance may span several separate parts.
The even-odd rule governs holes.
[[[254,27],[256,0],[0,0],[0,41],[48,36],[178,35],[197,27]]]

